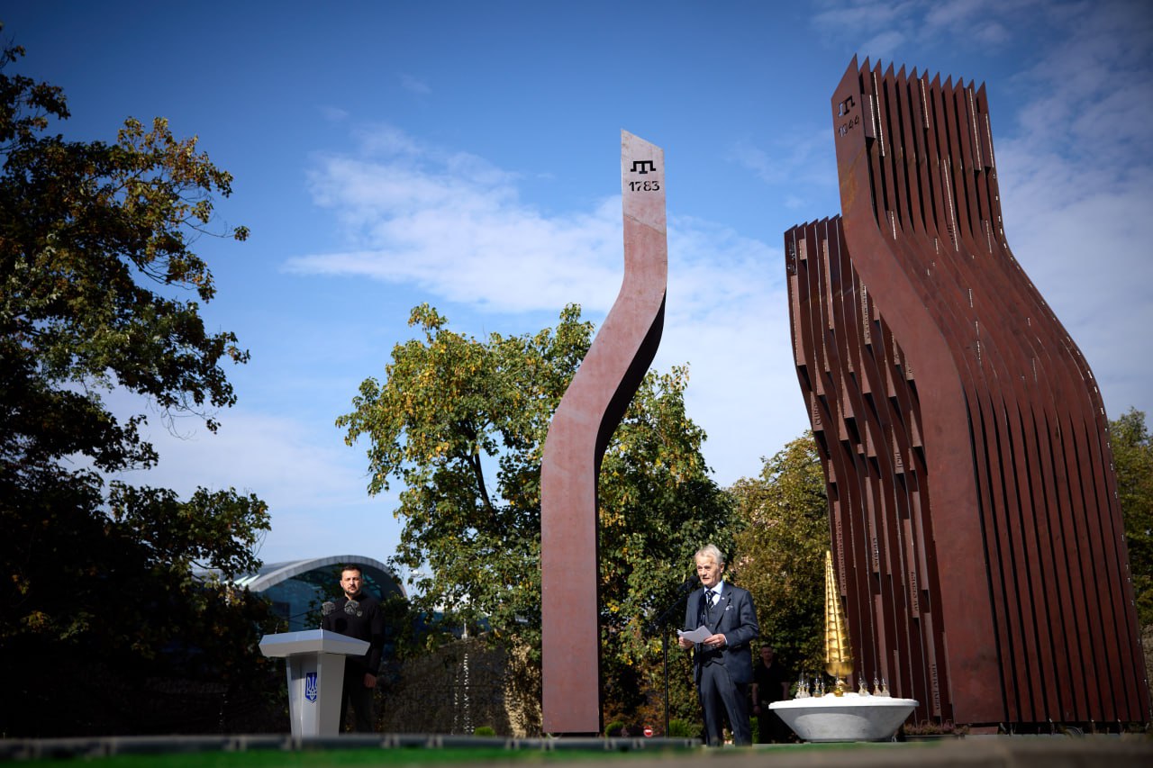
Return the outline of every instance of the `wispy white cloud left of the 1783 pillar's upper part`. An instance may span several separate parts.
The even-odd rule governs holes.
[[[507,311],[552,310],[574,295],[604,311],[616,296],[619,197],[547,217],[519,202],[511,174],[392,128],[366,134],[356,157],[321,158],[310,181],[353,248],[292,258],[291,271],[412,284]]]

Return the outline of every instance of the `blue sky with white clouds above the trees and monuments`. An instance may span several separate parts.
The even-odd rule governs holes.
[[[781,7],[778,7],[778,5]],[[1153,414],[1153,3],[6,3],[17,71],[65,88],[71,138],[168,118],[235,175],[204,239],[214,330],[251,351],[211,435],[153,419],[134,482],[251,491],[266,562],[386,559],[392,494],[333,420],[429,302],[483,337],[600,324],[623,268],[619,141],[664,149],[669,295],[655,367],[730,484],[807,428],[782,236],[839,211],[829,100],[852,57],[985,82],[1007,238],[1110,417]]]

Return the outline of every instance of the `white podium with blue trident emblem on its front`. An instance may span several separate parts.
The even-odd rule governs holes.
[[[340,733],[345,656],[363,656],[368,648],[367,640],[324,630],[266,634],[261,639],[262,654],[285,660],[294,737]]]

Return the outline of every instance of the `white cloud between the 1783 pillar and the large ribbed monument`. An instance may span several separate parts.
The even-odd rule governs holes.
[[[708,434],[722,484],[760,473],[760,458],[808,428],[789,339],[779,248],[675,217],[669,313],[654,367],[689,363],[686,409]]]

